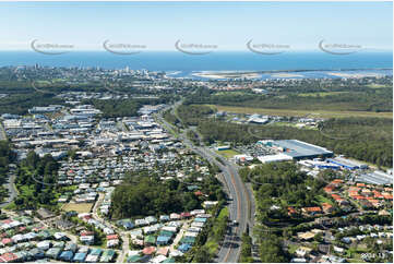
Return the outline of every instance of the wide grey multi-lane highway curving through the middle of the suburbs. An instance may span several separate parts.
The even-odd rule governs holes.
[[[170,108],[174,110],[174,108],[179,104],[180,101],[170,106]],[[162,116],[167,109],[162,110],[160,113],[156,116],[156,120],[164,124],[167,130],[174,130],[174,125],[168,123]],[[218,263],[236,263],[238,262],[241,250],[241,236],[248,227],[251,228],[252,221],[250,221],[250,219],[254,215],[254,213],[251,212],[251,193],[247,191],[235,164],[231,164],[208,147],[193,145],[193,143],[186,136],[186,131],[176,136],[194,153],[204,157],[211,164],[217,165],[223,172],[222,181],[225,185],[225,191],[230,196],[228,204],[230,223],[222,247],[214,261]],[[232,221],[237,221],[237,225],[234,225]]]

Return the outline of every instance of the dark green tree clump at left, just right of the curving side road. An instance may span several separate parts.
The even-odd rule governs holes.
[[[56,205],[58,169],[59,164],[51,155],[39,157],[29,152],[17,168],[15,184],[20,195],[15,204],[23,208]]]

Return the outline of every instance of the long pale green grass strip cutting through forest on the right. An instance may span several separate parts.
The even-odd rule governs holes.
[[[372,111],[326,111],[326,110],[291,110],[291,109],[270,109],[270,108],[252,108],[252,107],[234,107],[206,105],[216,108],[218,111],[227,111],[234,113],[262,113],[283,117],[315,117],[315,118],[347,118],[347,117],[374,117],[391,118],[393,112],[372,112]]]

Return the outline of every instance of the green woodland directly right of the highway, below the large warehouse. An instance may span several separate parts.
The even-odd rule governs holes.
[[[241,169],[240,175],[244,181],[252,182],[256,199],[255,236],[259,244],[260,261],[263,263],[288,262],[289,257],[283,250],[283,237],[271,229],[275,226],[291,226],[297,220],[290,219],[287,214],[288,206],[314,206],[318,194],[322,193],[325,182],[314,179],[298,170],[292,163],[266,164],[253,169]],[[302,219],[306,220],[306,219]],[[242,240],[249,241],[247,236]],[[244,261],[250,261],[248,247],[242,245]]]

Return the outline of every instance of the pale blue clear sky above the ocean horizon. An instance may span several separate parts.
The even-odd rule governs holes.
[[[175,50],[175,43],[246,50],[246,43],[315,50],[318,43],[393,46],[392,2],[0,2],[0,50],[33,39],[103,50],[103,41]]]

